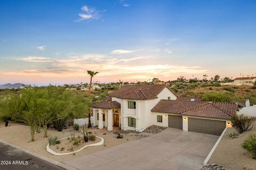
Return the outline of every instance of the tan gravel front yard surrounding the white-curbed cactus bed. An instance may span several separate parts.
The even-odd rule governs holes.
[[[41,131],[42,131],[41,133],[35,134],[35,140],[36,140],[35,142],[29,142],[30,131],[28,126],[11,125],[9,127],[0,128],[0,138],[10,143],[19,145],[22,148],[28,149],[30,151],[39,153],[40,155],[43,155],[58,161],[74,159],[74,158],[86,155],[88,153],[96,152],[102,149],[113,147],[118,144],[136,140],[136,136],[131,136],[130,134],[127,134],[127,135],[124,134],[123,139],[116,139],[116,134],[113,134],[112,132],[108,132],[105,129],[103,129],[102,131],[95,129],[96,133],[98,133],[97,136],[103,137],[104,139],[103,145],[87,147],[82,151],[77,152],[75,156],[72,154],[64,155],[64,156],[55,156],[55,155],[51,155],[51,153],[46,151],[46,145],[48,144],[48,141],[47,141],[47,138],[43,137],[44,135],[43,129],[41,129]],[[103,135],[103,133],[106,133],[106,135]],[[77,132],[76,135],[82,135],[82,133]],[[68,137],[70,136],[70,132],[68,131],[68,129],[65,129],[63,132],[58,132],[58,131],[49,129],[48,136],[58,136],[58,138]]]

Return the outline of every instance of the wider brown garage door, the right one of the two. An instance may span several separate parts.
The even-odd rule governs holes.
[[[188,131],[206,133],[211,135],[221,135],[226,128],[226,121],[188,118]]]

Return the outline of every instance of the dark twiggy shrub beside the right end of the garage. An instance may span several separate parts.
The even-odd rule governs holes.
[[[233,115],[231,117],[232,126],[239,132],[243,133],[246,131],[250,131],[253,127],[254,118],[246,115]]]

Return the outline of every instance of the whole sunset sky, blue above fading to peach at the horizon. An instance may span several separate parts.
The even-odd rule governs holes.
[[[2,1],[0,84],[256,75],[256,1]]]

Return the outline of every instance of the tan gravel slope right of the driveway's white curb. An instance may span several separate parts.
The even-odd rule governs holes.
[[[256,133],[256,123],[251,131],[239,134],[235,139],[228,136],[228,132],[236,131],[234,128],[228,128],[227,132],[220,141],[218,147],[213,152],[209,163],[214,163],[226,167],[228,170],[242,170],[244,167],[256,169],[256,160],[252,159],[249,152],[242,148],[242,143],[251,133]],[[249,168],[248,168],[249,169]]]

